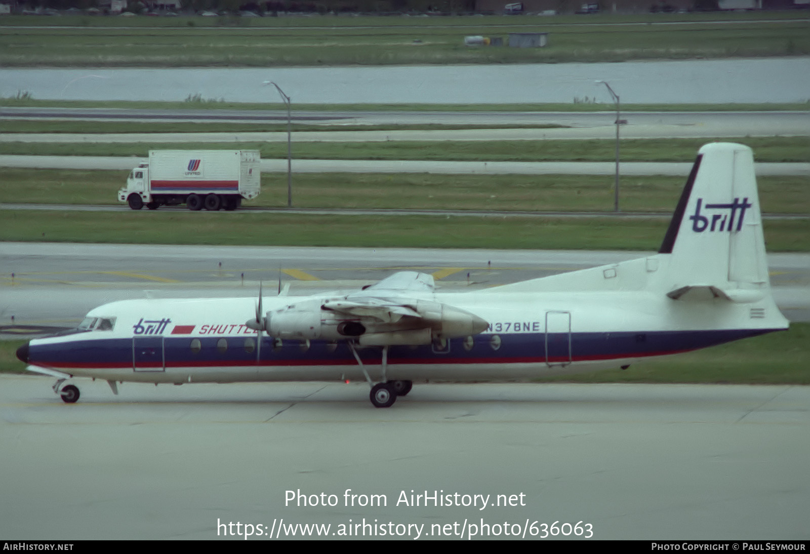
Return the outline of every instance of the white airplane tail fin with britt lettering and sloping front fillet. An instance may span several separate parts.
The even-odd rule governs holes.
[[[493,292],[649,292],[685,301],[720,300],[767,308],[787,326],[770,294],[757,179],[749,147],[701,147],[659,253],[648,258],[551,275]],[[759,312],[757,312],[759,313]],[[752,316],[754,317],[754,316]],[[759,316],[757,316],[759,317]]]

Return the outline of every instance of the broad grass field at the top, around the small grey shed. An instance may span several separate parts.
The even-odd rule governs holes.
[[[106,18],[107,21],[113,18]],[[201,18],[202,19],[202,18]],[[219,18],[218,18],[219,19]],[[429,19],[429,18],[428,18]],[[642,20],[660,20],[654,15]],[[52,19],[53,20],[53,19]],[[335,18],[335,21],[339,18]],[[449,21],[450,19],[444,19]],[[30,24],[31,19],[22,23]],[[368,28],[340,26],[252,27],[15,27],[0,34],[0,65],[29,66],[347,66],[479,63],[624,62],[637,59],[744,58],[810,53],[808,22],[738,20],[737,24],[623,25],[582,19],[548,27],[549,19],[467,19],[457,25],[424,24]],[[496,23],[497,21],[497,23]],[[593,23],[591,19],[588,23]],[[179,23],[179,22],[178,22]],[[264,23],[260,19],[255,24]],[[499,25],[499,26],[495,26]],[[501,27],[500,25],[505,25]],[[467,35],[551,33],[544,48],[467,47]]]

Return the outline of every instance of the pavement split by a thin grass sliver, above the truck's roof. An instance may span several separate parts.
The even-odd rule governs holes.
[[[287,121],[286,113],[264,110],[146,110],[146,109],[13,109],[0,108],[0,117],[26,119],[60,118],[91,121]],[[296,112],[298,123],[324,126],[341,125],[541,125],[565,129],[488,129],[488,130],[389,130],[389,131],[305,131],[292,134],[293,140],[399,141],[399,140],[535,140],[535,139],[613,139],[616,136],[615,111],[600,113],[569,112]],[[810,111],[804,112],[631,112],[623,113],[621,136],[625,139],[722,138],[742,136],[807,136]],[[2,134],[4,142],[182,142],[194,137],[198,142],[271,141],[283,142],[281,133],[150,133],[150,134]]]

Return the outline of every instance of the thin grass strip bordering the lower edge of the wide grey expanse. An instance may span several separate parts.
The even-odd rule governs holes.
[[[18,97],[19,96],[19,97]],[[245,103],[203,100],[200,102],[151,102],[127,100],[40,100],[19,92],[0,97],[0,106],[29,108],[119,108],[119,109],[251,109],[275,111],[286,117],[287,108],[278,103]],[[603,112],[613,104],[292,104],[292,112]],[[623,112],[750,112],[807,111],[810,100],[793,104],[621,104]]]

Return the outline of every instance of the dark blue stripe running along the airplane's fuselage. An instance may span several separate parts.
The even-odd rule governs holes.
[[[514,335],[477,335],[453,339],[444,352],[432,345],[393,346],[389,364],[509,364],[544,361],[612,360],[660,356],[710,347],[737,339],[762,335],[770,329],[635,331],[611,333],[518,333]],[[93,335],[93,334],[88,334]],[[274,339],[262,338],[261,358],[257,359],[255,336],[182,337],[167,335],[139,337],[136,348],[132,339],[94,339],[87,335],[67,343],[32,344],[29,363],[53,368],[132,367],[133,359],[143,367],[244,366],[261,365],[343,365],[356,364],[347,343],[313,340],[309,347],[300,341],[285,340],[275,346]],[[147,339],[147,340],[144,340]],[[162,339],[162,340],[161,340]],[[200,348],[193,350],[191,341]],[[219,343],[219,344],[218,344]],[[161,347],[161,344],[163,347]],[[548,348],[548,351],[547,351]],[[380,347],[358,350],[367,364],[381,362]]]

